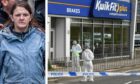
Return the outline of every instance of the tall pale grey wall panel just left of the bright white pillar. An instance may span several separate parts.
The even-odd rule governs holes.
[[[56,18],[56,30],[55,30],[55,55],[56,59],[61,61],[64,60],[65,56],[65,18]]]

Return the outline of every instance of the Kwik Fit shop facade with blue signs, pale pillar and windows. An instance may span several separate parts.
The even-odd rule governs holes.
[[[49,58],[70,61],[73,40],[83,49],[88,43],[96,59],[133,58],[136,3],[130,0],[49,0]],[[136,10],[131,10],[133,8]]]

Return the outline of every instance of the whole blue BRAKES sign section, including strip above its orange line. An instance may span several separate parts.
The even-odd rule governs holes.
[[[48,13],[53,15],[89,17],[94,0],[49,0]]]

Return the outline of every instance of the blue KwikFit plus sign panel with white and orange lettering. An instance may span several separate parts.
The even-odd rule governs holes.
[[[122,0],[96,0],[93,16],[130,20],[131,4]]]

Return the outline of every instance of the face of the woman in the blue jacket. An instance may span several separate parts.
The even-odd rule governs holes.
[[[17,6],[12,15],[15,30],[23,32],[29,25],[32,16],[24,7]]]

